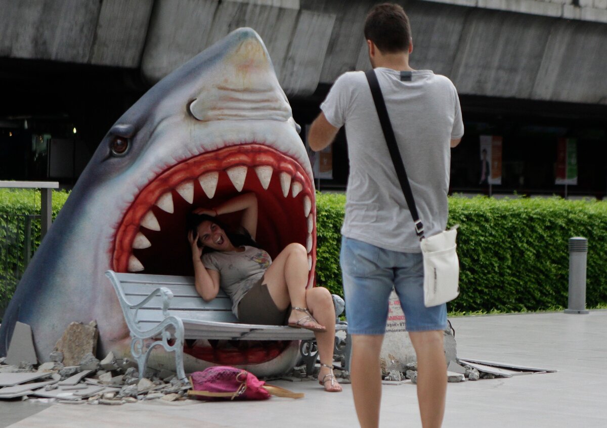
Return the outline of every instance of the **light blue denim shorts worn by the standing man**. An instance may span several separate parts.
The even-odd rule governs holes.
[[[447,305],[424,306],[424,264],[421,253],[400,253],[342,237],[348,333],[383,335],[388,302],[394,288],[405,314],[407,331],[444,330]]]

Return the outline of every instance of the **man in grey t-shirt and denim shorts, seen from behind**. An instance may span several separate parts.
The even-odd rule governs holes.
[[[450,147],[464,134],[458,95],[444,76],[409,67],[409,18],[396,4],[376,5],[365,21],[378,76],[426,236],[447,224]],[[350,158],[341,267],[352,335],[351,381],[362,428],[379,426],[381,368],[388,301],[395,288],[418,358],[418,401],[424,428],[443,421],[447,390],[443,330],[446,305],[426,308],[419,239],[388,153],[363,72],[340,76],[310,129],[314,151],[345,124]]]

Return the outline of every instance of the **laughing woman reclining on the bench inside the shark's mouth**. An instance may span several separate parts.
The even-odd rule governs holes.
[[[243,211],[235,233],[217,216]],[[290,243],[274,261],[255,242],[257,197],[239,195],[214,209],[191,214],[188,240],[192,248],[196,290],[205,301],[219,288],[232,299],[232,312],[246,324],[290,325],[314,331],[320,355],[319,382],[328,392],[342,390],[333,374],[335,308],[324,287],[306,288],[308,254]]]

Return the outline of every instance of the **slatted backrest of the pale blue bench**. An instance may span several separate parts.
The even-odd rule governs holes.
[[[115,280],[109,277],[112,283],[115,283]],[[194,277],[140,273],[114,273],[114,277],[120,282],[123,298],[129,305],[137,305],[157,288],[165,287],[173,293],[169,306],[169,313],[172,315],[181,319],[238,322],[232,313],[231,299],[220,290],[215,299],[205,302],[196,291]],[[114,287],[117,287],[117,284],[114,284]],[[157,324],[162,321],[164,319],[162,304],[163,299],[158,293],[137,310],[137,318],[134,321],[140,325],[140,328],[145,328],[145,324]],[[134,316],[135,309],[130,311],[131,316]]]

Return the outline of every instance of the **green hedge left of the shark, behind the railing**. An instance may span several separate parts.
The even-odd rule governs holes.
[[[53,191],[53,219],[66,202],[67,193]],[[40,244],[40,191],[0,189],[0,311],[15,292],[24,271],[27,216],[31,220],[30,257]]]

